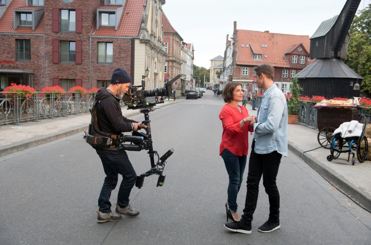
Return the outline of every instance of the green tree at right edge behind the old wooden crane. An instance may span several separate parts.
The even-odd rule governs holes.
[[[371,95],[371,4],[358,12],[349,29],[348,57],[350,68],[364,77],[361,92]]]

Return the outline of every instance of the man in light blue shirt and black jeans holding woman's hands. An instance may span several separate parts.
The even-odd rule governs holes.
[[[230,231],[251,233],[251,222],[256,209],[259,182],[263,175],[263,186],[269,197],[269,218],[258,228],[260,232],[271,232],[280,228],[280,197],[276,185],[281,157],[287,157],[287,104],[285,95],[273,84],[274,67],[262,64],[254,68],[256,84],[262,88],[262,103],[257,110],[257,121],[250,122],[254,138],[249,159],[245,208],[239,222],[226,223]]]

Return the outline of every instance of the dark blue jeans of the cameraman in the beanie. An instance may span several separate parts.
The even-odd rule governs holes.
[[[126,207],[129,204],[129,196],[135,181],[137,181],[137,174],[128,154],[123,150],[106,150],[103,148],[95,149],[102,160],[104,173],[106,177],[102,186],[101,194],[98,199],[99,211],[103,213],[111,212],[111,192],[116,188],[118,181],[118,174],[122,175],[122,181],[117,194],[117,203],[120,207]]]

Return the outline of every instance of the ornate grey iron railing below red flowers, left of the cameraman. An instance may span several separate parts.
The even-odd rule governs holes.
[[[65,93],[60,97],[56,96],[55,92],[36,92],[29,98],[17,95],[12,97],[14,92],[1,93],[3,98],[0,99],[0,125],[88,113],[95,97],[94,92],[84,96],[79,93]]]

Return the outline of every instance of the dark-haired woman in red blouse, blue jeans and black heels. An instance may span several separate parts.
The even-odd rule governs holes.
[[[256,117],[249,116],[246,107],[239,106],[242,101],[242,85],[229,82],[223,89],[225,104],[220,111],[219,118],[223,126],[219,155],[224,160],[229,175],[228,199],[226,203],[228,218],[240,220],[237,213],[237,193],[243,180],[246,167],[247,151],[249,149],[249,132],[253,132],[251,124]]]

